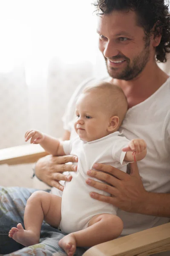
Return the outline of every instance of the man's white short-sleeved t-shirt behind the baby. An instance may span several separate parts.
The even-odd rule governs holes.
[[[111,78],[104,79],[108,81]],[[75,136],[73,118],[75,103],[82,90],[96,79],[86,80],[73,93],[63,116],[64,129]],[[170,78],[148,99],[127,111],[121,126],[123,136],[144,139],[147,156],[138,162],[139,174],[147,191],[170,193]],[[93,188],[91,188],[93,190]],[[91,191],[92,191],[91,190]],[[53,192],[56,193],[57,189]],[[128,235],[169,221],[169,218],[124,212],[117,215],[124,222],[122,235]]]

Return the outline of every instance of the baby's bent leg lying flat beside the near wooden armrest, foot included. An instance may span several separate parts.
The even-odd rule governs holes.
[[[76,246],[91,247],[104,243],[120,236],[123,222],[116,215],[100,214],[94,216],[86,229],[64,236],[59,241],[59,246],[66,251],[68,256],[75,253]]]

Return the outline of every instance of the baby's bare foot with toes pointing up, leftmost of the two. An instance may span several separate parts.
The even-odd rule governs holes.
[[[9,237],[13,238],[24,246],[30,246],[39,243],[39,237],[31,230],[24,230],[23,226],[18,223],[17,227],[12,227],[9,231]]]

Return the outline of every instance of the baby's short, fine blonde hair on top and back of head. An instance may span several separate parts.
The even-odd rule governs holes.
[[[120,87],[109,82],[100,82],[86,87],[83,93],[94,93],[103,110],[106,110],[110,117],[118,116],[119,126],[121,125],[127,112],[127,98]]]

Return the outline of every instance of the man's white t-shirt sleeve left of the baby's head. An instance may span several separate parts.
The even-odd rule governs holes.
[[[66,105],[66,110],[62,117],[64,130],[71,132],[72,120],[74,119],[74,116],[75,116],[75,103],[78,99],[78,96],[81,94],[83,89],[86,86],[89,86],[89,84],[91,84],[91,82],[93,83],[93,81],[95,81],[94,78],[86,79],[77,87],[75,92],[72,94],[72,97],[70,98],[68,104]]]

